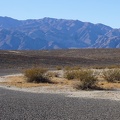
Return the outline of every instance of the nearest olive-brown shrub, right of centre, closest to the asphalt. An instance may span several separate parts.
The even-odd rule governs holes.
[[[79,75],[80,82],[75,85],[76,89],[88,90],[88,89],[98,89],[97,87],[97,77],[94,76],[93,72],[90,70],[85,70],[80,72]]]

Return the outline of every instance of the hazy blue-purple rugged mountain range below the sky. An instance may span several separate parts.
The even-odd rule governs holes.
[[[79,20],[0,17],[2,50],[77,48],[120,48],[120,29]]]

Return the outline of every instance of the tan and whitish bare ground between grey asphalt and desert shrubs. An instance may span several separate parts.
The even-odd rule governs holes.
[[[23,92],[52,94],[62,93],[67,97],[109,99],[120,101],[120,84],[117,83],[107,83],[105,81],[99,83],[99,85],[104,88],[117,88],[116,90],[82,91],[73,89],[73,84],[76,84],[78,81],[57,77],[52,78],[52,81],[54,84],[27,83],[23,75],[11,75],[0,78],[0,87]]]

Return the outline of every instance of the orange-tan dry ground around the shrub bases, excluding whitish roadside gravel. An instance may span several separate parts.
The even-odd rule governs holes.
[[[0,78],[0,84],[6,86],[14,86],[18,88],[31,88],[31,87],[58,87],[58,88],[73,88],[74,85],[78,84],[80,81],[78,80],[67,80],[65,78],[60,77],[52,77],[52,84],[49,83],[28,83],[25,81],[25,77],[23,75],[8,75]],[[98,85],[103,89],[116,89],[120,88],[120,83],[108,83],[106,81],[99,81]]]

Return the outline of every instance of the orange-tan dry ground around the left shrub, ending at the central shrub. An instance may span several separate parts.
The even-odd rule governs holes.
[[[53,84],[49,83],[28,83],[25,81],[25,77],[23,75],[21,76],[6,76],[3,77],[4,80],[0,82],[1,85],[6,85],[6,86],[14,86],[18,88],[31,88],[31,87],[44,87],[44,86],[49,86],[52,89],[55,89],[58,87],[60,89],[64,87],[72,87],[73,84],[76,83],[76,81],[70,81],[65,78],[51,78]]]

